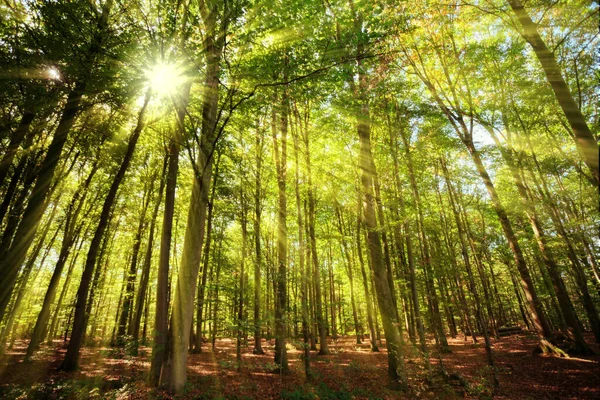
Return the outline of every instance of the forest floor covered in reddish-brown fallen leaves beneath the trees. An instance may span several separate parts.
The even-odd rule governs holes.
[[[587,337],[593,343],[593,337]],[[482,342],[483,340],[481,340]],[[272,372],[273,343],[263,341],[265,355],[245,349],[240,371],[235,359],[235,341],[217,341],[216,351],[206,344],[200,354],[190,355],[188,387],[190,399],[600,399],[600,355],[545,357],[533,353],[535,337],[526,334],[494,341],[499,388],[491,392],[492,375],[486,367],[483,344],[449,339],[451,352],[442,354],[442,364],[458,380],[445,380],[438,372],[430,379],[414,348],[405,349],[410,392],[403,394],[387,386],[387,354],[369,351],[368,341],[355,337],[330,343],[331,354],[311,352],[311,376],[307,381],[301,351],[288,344],[290,373]],[[295,343],[298,344],[298,343]],[[110,347],[85,348],[81,370],[58,372],[65,348],[61,342],[44,347],[29,363],[23,362],[27,342],[17,341],[0,363],[0,397],[9,399],[145,399],[169,398],[162,390],[145,384],[150,349],[138,356]],[[299,346],[298,346],[299,347]],[[300,348],[300,347],[299,347]],[[594,346],[600,354],[600,348]],[[439,371],[439,354],[431,356],[432,370]]]

